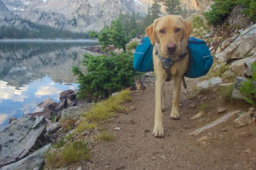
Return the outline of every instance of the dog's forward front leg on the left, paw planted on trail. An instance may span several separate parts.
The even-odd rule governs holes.
[[[154,130],[152,135],[154,137],[164,137],[163,132],[163,115],[162,115],[162,103],[163,101],[163,85],[165,79],[157,79],[155,82],[155,116],[154,116]]]

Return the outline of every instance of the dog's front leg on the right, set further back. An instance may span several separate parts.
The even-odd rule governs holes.
[[[174,77],[174,89],[173,89],[173,108],[170,115],[172,119],[179,119],[179,92],[182,82],[182,77]]]

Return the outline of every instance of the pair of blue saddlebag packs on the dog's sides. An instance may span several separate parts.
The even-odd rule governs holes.
[[[189,37],[188,49],[188,69],[184,76],[197,78],[207,74],[213,64],[213,57],[207,47],[207,43],[201,39]],[[153,45],[151,45],[148,37],[139,42],[133,55],[133,67],[136,71],[154,71],[152,51]]]

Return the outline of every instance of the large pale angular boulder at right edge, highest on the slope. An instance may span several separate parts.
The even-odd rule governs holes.
[[[223,63],[231,59],[245,58],[256,52],[256,24],[247,28],[233,43],[215,57]]]

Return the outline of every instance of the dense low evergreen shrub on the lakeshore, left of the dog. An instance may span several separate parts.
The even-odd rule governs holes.
[[[79,99],[108,97],[115,91],[133,85],[133,77],[137,74],[133,68],[133,53],[122,52],[111,57],[106,55],[92,56],[84,55],[82,65],[87,66],[86,74],[83,74],[78,67],[73,67],[74,75],[78,75],[77,82]]]

